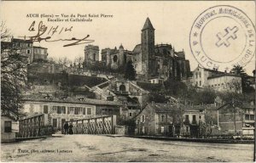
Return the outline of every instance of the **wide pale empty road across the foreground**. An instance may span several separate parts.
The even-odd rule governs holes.
[[[253,161],[253,144],[66,135],[1,145],[2,161]]]

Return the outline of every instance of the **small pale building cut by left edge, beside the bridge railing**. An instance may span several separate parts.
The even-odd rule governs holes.
[[[19,125],[15,118],[9,115],[2,115],[1,143],[15,142],[17,132],[19,132]]]

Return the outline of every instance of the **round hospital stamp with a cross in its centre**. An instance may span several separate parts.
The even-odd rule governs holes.
[[[230,70],[234,65],[245,66],[255,53],[253,22],[232,6],[207,8],[191,27],[189,46],[204,68]]]

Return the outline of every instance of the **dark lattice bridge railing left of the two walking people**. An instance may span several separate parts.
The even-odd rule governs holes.
[[[17,138],[36,138],[53,133],[52,126],[48,124],[48,115],[32,115],[19,120],[19,133]]]

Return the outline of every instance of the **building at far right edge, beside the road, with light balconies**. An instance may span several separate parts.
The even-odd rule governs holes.
[[[218,108],[218,127],[222,134],[253,135],[255,105],[224,104]]]

